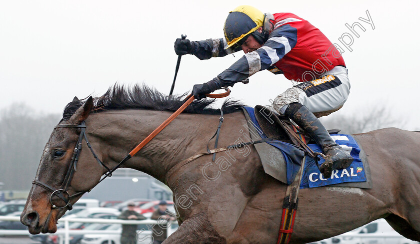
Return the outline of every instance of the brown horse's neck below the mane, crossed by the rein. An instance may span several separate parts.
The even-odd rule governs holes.
[[[86,132],[99,144],[103,162],[109,167],[114,167],[170,114],[151,110],[92,114],[86,121]],[[170,168],[205,149],[207,141],[202,138],[210,139],[214,133],[208,130],[210,124],[214,124],[213,120],[208,122],[209,116],[218,117],[200,114],[179,115],[121,167],[142,171],[163,182]],[[217,118],[214,121],[216,120]]]

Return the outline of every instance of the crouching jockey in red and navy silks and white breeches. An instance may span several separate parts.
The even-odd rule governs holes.
[[[325,177],[333,169],[347,168],[350,154],[317,119],[340,109],[350,90],[347,68],[335,46],[319,29],[292,13],[264,14],[247,5],[229,12],[223,31],[224,38],[175,41],[177,55],[189,53],[201,60],[239,50],[245,53],[212,80],[194,85],[194,97],[204,98],[260,70],[283,74],[299,83],[275,97],[271,110],[291,119],[322,148],[326,160],[320,171]]]

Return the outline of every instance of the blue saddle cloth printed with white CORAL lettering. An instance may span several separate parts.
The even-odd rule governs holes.
[[[244,109],[248,112],[252,123],[258,127],[256,128],[256,131],[261,136],[261,138],[267,138],[267,136],[263,134],[261,128],[259,127],[258,121],[255,118],[254,108],[244,107]],[[353,162],[346,169],[333,170],[331,177],[325,179],[319,172],[319,169],[316,167],[315,159],[306,157],[300,189],[333,185],[343,182],[366,181],[363,163],[359,158],[360,147],[358,146],[357,142],[350,135],[345,134],[332,134],[331,137],[335,140],[335,143],[340,145],[344,150],[350,152],[350,155],[353,157]],[[287,184],[290,185],[300,168],[304,152],[298,147],[282,141],[269,141],[266,143],[275,148],[278,148],[281,151],[286,162]],[[308,146],[314,152],[322,152],[321,148],[316,144],[308,144]],[[318,164],[321,165],[324,161],[325,160],[321,158],[319,159]]]

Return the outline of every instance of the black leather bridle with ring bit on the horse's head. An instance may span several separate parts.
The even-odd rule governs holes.
[[[101,167],[104,167],[107,170],[107,172],[105,173],[105,176],[102,177],[102,179],[100,179],[99,182],[103,181],[103,179],[105,179],[108,176],[110,177],[112,175],[112,172],[114,172],[120,166],[120,164],[115,166],[113,169],[109,169],[104,163],[102,163],[102,161],[100,161],[100,159],[97,157],[97,155],[93,151],[93,148],[90,145],[89,141],[87,140],[86,132],[85,132],[86,125],[85,125],[84,121],[82,121],[81,124],[79,124],[79,125],[71,125],[71,124],[56,125],[54,127],[54,130],[57,129],[57,128],[80,128],[80,135],[79,135],[79,138],[77,140],[76,146],[74,147],[73,156],[71,157],[70,165],[68,166],[67,173],[64,177],[64,181],[61,184],[59,189],[54,189],[54,188],[48,186],[47,184],[45,184],[45,183],[43,183],[39,180],[36,180],[36,179],[34,181],[32,181],[32,184],[38,185],[38,186],[48,190],[49,192],[51,192],[51,195],[49,196],[49,203],[51,204],[53,209],[68,208],[68,210],[71,210],[73,208],[71,206],[71,203],[70,203],[71,198],[77,197],[79,195],[82,195],[83,193],[90,192],[90,190],[92,190],[92,189],[89,189],[88,191],[77,192],[73,195],[70,195],[68,193],[68,187],[70,186],[71,179],[73,178],[74,172],[77,171],[76,166],[77,166],[78,158],[80,156],[83,138],[86,141],[86,145],[90,149],[90,152],[92,153],[93,157],[96,159],[96,162]],[[58,207],[58,206],[54,205],[53,200],[52,200],[53,196],[57,196],[59,199],[64,201],[65,206]]]

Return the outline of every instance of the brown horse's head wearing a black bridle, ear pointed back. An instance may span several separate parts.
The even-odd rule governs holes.
[[[21,223],[33,235],[55,233],[57,220],[99,182],[102,166],[82,143],[83,138],[87,139],[84,121],[92,106],[89,97],[69,119],[58,123],[45,145],[20,216]]]

